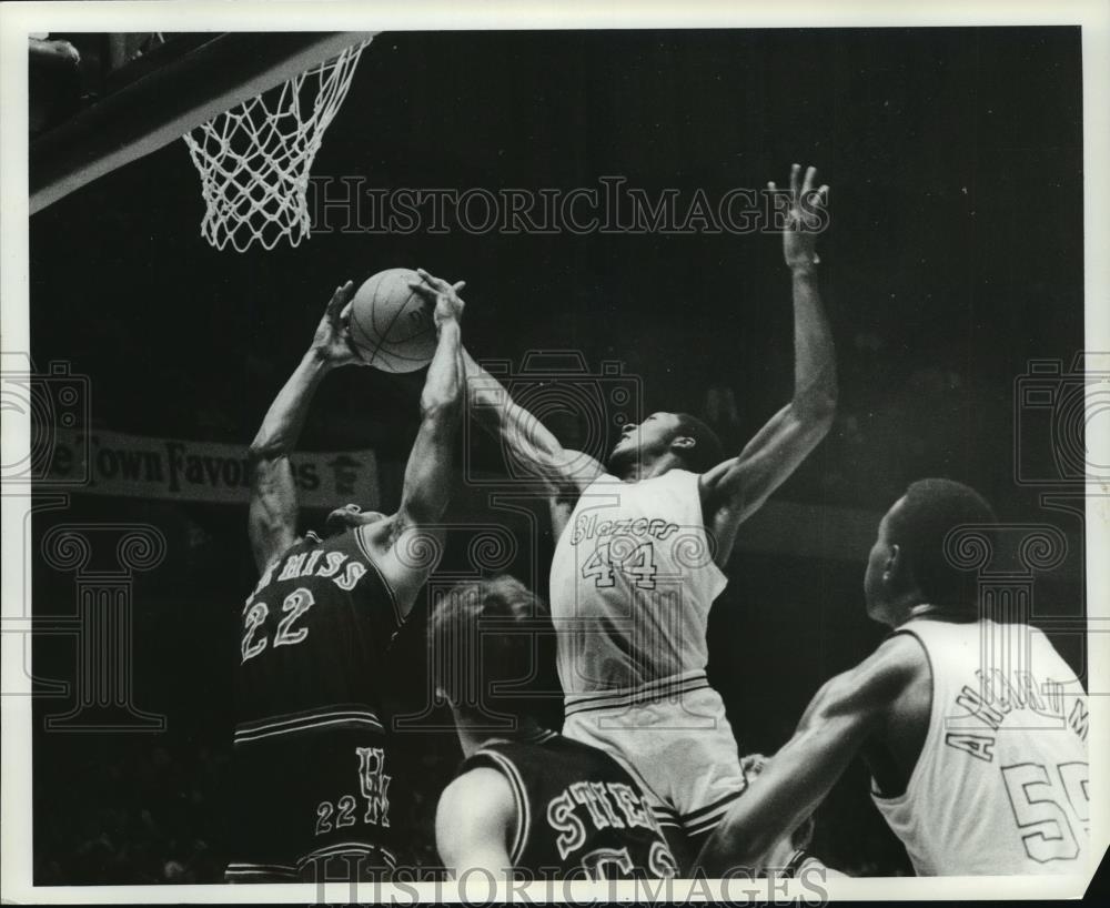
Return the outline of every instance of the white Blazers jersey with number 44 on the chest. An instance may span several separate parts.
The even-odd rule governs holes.
[[[603,475],[583,492],[551,574],[568,704],[704,673],[709,606],[727,583],[710,549],[695,473]]]

